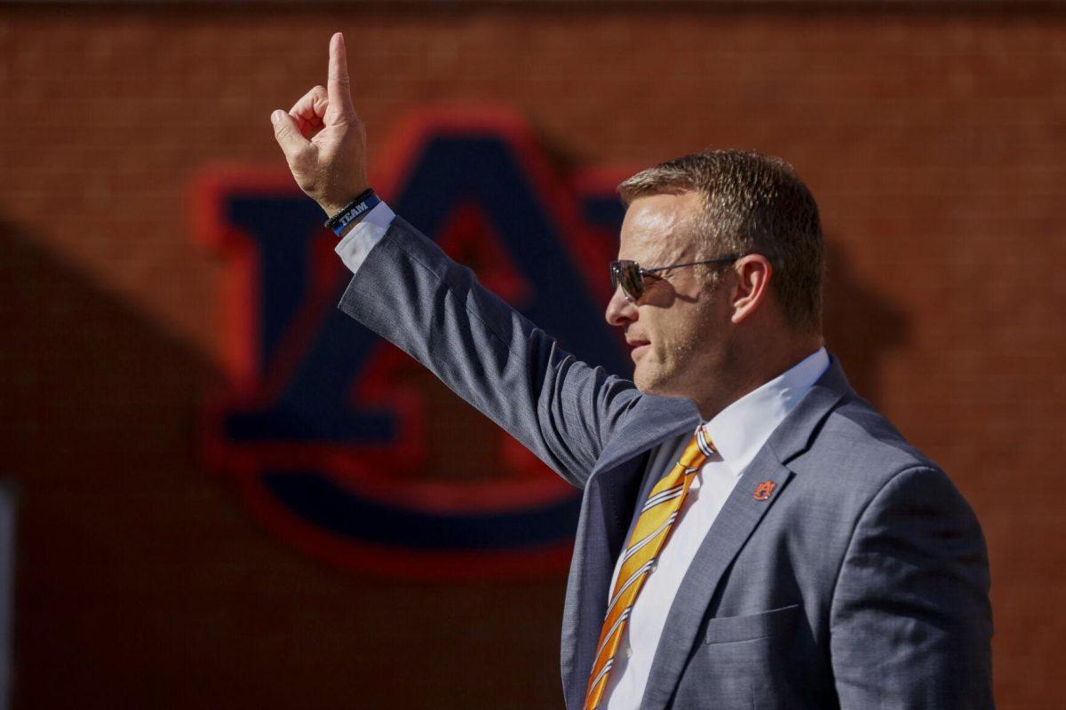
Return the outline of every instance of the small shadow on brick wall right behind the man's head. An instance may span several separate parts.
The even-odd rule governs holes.
[[[910,319],[892,301],[854,278],[847,252],[826,241],[825,343],[856,392],[875,404],[887,358],[910,339]]]

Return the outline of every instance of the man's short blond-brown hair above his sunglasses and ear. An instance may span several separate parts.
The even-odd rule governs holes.
[[[697,259],[757,252],[774,266],[771,292],[786,323],[821,332],[825,240],[818,204],[787,162],[753,151],[692,153],[637,172],[618,185],[639,197],[697,191]]]

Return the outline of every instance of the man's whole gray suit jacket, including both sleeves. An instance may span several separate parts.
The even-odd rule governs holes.
[[[562,637],[580,708],[615,560],[695,404],[577,361],[399,217],[340,308],[584,490]],[[970,507],[834,359],[708,532],[641,707],[990,708],[988,585]]]

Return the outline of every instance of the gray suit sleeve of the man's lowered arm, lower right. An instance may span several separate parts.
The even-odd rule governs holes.
[[[943,472],[914,467],[854,530],[830,609],[840,707],[992,708],[988,557]]]

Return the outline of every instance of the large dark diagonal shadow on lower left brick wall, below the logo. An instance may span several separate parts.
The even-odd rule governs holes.
[[[0,329],[16,710],[558,704],[562,576],[427,594],[280,544],[200,461],[222,374],[2,218]],[[395,671],[413,648],[420,683]]]

